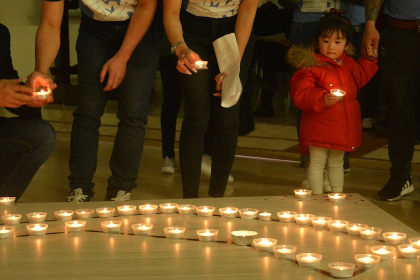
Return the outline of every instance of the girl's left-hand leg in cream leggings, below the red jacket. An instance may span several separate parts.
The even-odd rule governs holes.
[[[324,168],[327,154],[328,149],[326,148],[309,146],[308,182],[313,194],[323,193]]]

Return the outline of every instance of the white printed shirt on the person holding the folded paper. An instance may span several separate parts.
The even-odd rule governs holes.
[[[236,15],[241,0],[184,0],[183,2],[187,12],[195,16],[220,19]]]

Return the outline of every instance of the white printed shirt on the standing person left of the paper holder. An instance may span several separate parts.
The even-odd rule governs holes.
[[[122,21],[133,16],[138,0],[82,0],[82,2],[93,12],[93,19]]]

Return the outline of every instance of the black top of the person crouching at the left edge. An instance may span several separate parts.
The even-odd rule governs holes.
[[[13,68],[10,56],[10,33],[6,26],[0,23],[0,79],[19,79],[18,72]],[[7,111],[26,118],[41,118],[41,108],[21,106],[6,108]]]

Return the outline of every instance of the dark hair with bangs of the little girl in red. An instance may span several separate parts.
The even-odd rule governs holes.
[[[352,37],[351,23],[350,19],[344,16],[343,10],[331,9],[329,12],[324,12],[315,31],[315,45],[318,46],[319,37],[330,37],[335,33],[344,37],[346,46],[350,43]]]

